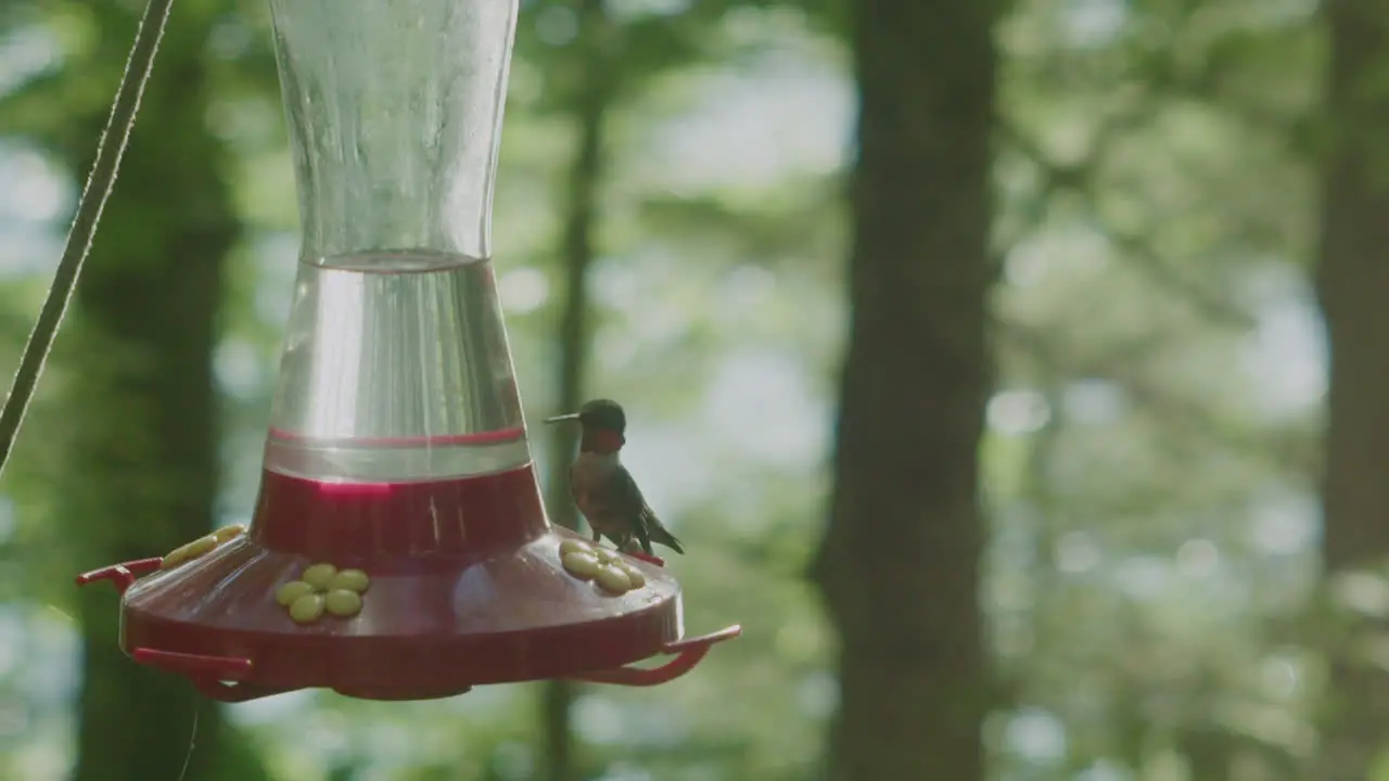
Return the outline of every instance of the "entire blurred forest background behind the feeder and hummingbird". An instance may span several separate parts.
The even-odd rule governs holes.
[[[140,6],[0,3],[0,365]],[[688,627],[746,635],[658,689],[199,706],[71,577],[251,510],[269,46],[175,4],[0,482],[0,777],[176,778],[196,713],[199,781],[1389,780],[1383,4],[522,3],[528,416],[628,406]]]

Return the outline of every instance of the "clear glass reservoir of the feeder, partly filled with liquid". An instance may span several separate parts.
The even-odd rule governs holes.
[[[265,467],[529,461],[490,260],[515,0],[269,0],[303,247]]]

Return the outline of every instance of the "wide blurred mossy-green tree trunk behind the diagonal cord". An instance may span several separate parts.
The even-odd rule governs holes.
[[[83,570],[158,556],[214,524],[218,404],[213,381],[222,263],[240,225],[224,179],[224,145],[208,133],[214,97],[204,69],[213,14],[175,11],[121,178],[78,288],[65,389],[72,425],[58,514]],[[194,15],[199,8],[201,15]],[[99,8],[108,61],[124,61],[138,7]],[[182,22],[182,24],[181,24]],[[189,24],[192,22],[192,24]],[[119,67],[100,74],[114,93]],[[110,86],[110,92],[106,90]],[[71,122],[64,143],[85,172],[107,106]],[[226,741],[221,709],[199,705],[188,682],[126,659],[117,641],[119,599],[110,586],[79,596],[85,641],[79,781],[179,778],[197,713],[186,778],[264,778],[240,741]]]

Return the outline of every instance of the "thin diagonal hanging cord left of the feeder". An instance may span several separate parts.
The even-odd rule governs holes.
[[[29,332],[29,342],[24,346],[19,357],[19,368],[14,374],[10,385],[10,395],[0,409],[0,472],[10,461],[14,450],[14,441],[19,435],[19,425],[24,414],[29,410],[33,392],[39,385],[39,375],[43,374],[43,364],[53,350],[53,339],[58,335],[58,325],[72,302],[72,292],[78,285],[78,275],[82,264],[92,250],[92,239],[96,236],[97,222],[101,221],[101,210],[106,208],[107,199],[115,188],[115,174],[121,168],[121,157],[131,142],[131,131],[135,129],[135,115],[140,108],[140,96],[144,94],[144,85],[150,81],[154,69],[154,56],[160,49],[160,39],[164,38],[164,28],[168,24],[169,10],[174,0],[149,0],[144,14],[140,15],[140,26],[135,31],[135,43],[131,46],[131,57],[125,61],[125,72],[121,74],[121,86],[115,92],[111,103],[111,115],[101,131],[101,139],[96,146],[96,161],[92,163],[92,174],[86,186],[82,188],[82,197],[78,199],[78,210],[72,217],[72,227],[68,229],[68,240],[63,247],[63,257],[58,260],[58,270],[53,275],[53,285],[39,310],[39,320]],[[114,133],[113,133],[114,132]],[[115,143],[110,143],[110,142]]]

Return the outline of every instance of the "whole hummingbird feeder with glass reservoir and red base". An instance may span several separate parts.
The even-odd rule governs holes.
[[[254,516],[78,582],[219,700],[689,671],[740,628],[540,499],[489,247],[515,0],[269,6],[303,245]]]

